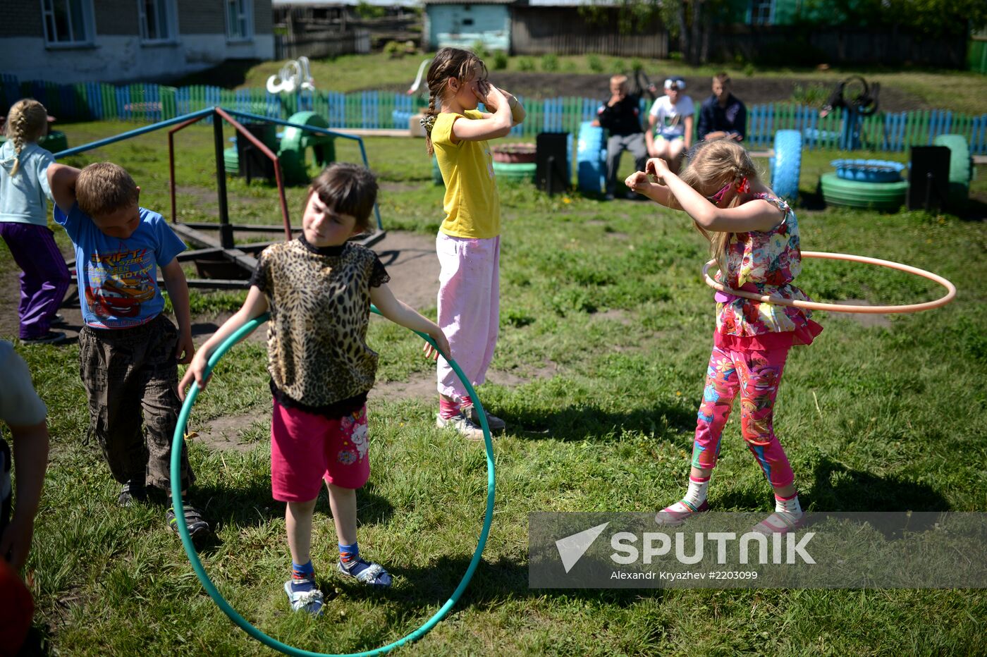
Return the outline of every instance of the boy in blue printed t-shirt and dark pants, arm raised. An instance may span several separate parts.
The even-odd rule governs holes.
[[[121,167],[101,162],[80,172],[52,165],[48,182],[55,222],[75,247],[86,325],[79,333],[79,361],[90,431],[123,484],[120,505],[144,499],[147,485],[171,494],[172,437],[182,406],[178,364],[189,363],[194,352],[189,286],[175,257],[185,244],[164,217],[137,204],[140,187]],[[162,314],[159,266],[178,329]],[[194,474],[185,447],[182,452],[184,494]],[[208,533],[195,507],[188,501],[183,506],[190,535]],[[174,509],[166,518],[178,531]]]

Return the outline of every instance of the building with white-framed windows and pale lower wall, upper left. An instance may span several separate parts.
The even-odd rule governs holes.
[[[274,55],[271,0],[3,0],[0,73],[127,82]]]

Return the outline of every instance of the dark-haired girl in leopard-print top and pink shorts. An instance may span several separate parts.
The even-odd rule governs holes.
[[[183,395],[192,380],[204,388],[216,347],[269,311],[271,487],[274,499],[287,503],[292,559],[284,590],[292,610],[314,615],[322,613],[323,596],[310,546],[323,479],[340,543],[339,571],[370,586],[391,585],[387,571],[362,559],[356,544],[356,489],[370,474],[366,396],[377,370],[377,354],[366,344],[370,304],[449,353],[442,331],[391,293],[377,255],[347,242],[369,226],[376,198],[368,170],[334,164],[324,171],[309,189],[301,237],[261,254],[243,307],[199,348],[180,386]],[[428,344],[425,353],[437,355]]]

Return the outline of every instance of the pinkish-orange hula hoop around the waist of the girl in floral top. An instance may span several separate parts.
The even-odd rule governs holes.
[[[747,292],[745,290],[734,290],[732,288],[726,287],[721,283],[718,283],[713,278],[710,277],[710,267],[717,263],[716,260],[710,260],[703,267],[703,277],[706,279],[706,284],[715,290],[720,290],[724,294],[732,294],[735,297],[743,297],[744,299],[751,299],[752,301],[760,301],[762,303],[777,304],[779,306],[795,306],[796,308],[804,308],[806,310],[821,310],[828,311],[830,313],[862,313],[862,314],[873,314],[873,315],[884,315],[888,313],[917,313],[924,310],[932,310],[933,308],[940,308],[945,306],[956,296],[956,286],[949,282],[946,278],[943,278],[939,274],[934,274],[931,271],[926,271],[925,269],[919,269],[918,267],[909,266],[907,264],[902,264],[900,262],[892,262],[891,260],[882,260],[877,257],[867,257],[866,255],[851,255],[851,254],[830,254],[822,251],[803,251],[801,253],[802,257],[819,257],[830,260],[852,260],[854,262],[865,262],[867,264],[879,264],[883,267],[889,267],[891,269],[898,269],[900,271],[905,271],[908,273],[916,274],[924,278],[928,278],[931,281],[939,283],[946,288],[946,294],[935,301],[926,301],[921,304],[909,304],[907,306],[843,306],[841,304],[820,304],[814,301],[798,301],[796,299],[785,299],[773,294],[756,294],[754,292]]]

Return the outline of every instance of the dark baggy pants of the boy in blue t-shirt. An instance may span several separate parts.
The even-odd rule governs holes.
[[[96,435],[117,481],[144,478],[148,485],[171,486],[172,439],[182,407],[177,344],[178,329],[163,315],[140,327],[85,327],[79,333],[90,434]],[[183,445],[183,490],[193,480]]]

